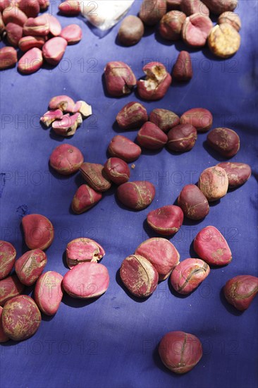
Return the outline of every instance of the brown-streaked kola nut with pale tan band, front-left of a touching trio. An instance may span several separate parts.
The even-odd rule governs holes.
[[[156,268],[140,255],[130,255],[123,260],[120,277],[130,293],[138,298],[152,295],[159,281]]]

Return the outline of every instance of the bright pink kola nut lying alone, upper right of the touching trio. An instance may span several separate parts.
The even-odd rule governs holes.
[[[206,226],[194,240],[197,255],[209,265],[227,265],[232,260],[231,249],[215,226]]]

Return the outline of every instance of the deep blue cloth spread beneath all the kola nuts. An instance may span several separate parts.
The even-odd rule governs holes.
[[[56,15],[59,2],[52,4]],[[154,183],[156,197],[141,212],[126,210],[114,195],[104,195],[89,212],[75,215],[70,202],[82,179],[80,174],[61,178],[49,171],[49,155],[61,143],[80,148],[87,162],[104,164],[109,141],[120,133],[113,123],[118,111],[135,94],[121,99],[104,95],[102,74],[108,61],[125,61],[137,78],[143,63],[161,61],[171,71],[183,42],[162,41],[154,30],[134,47],[115,43],[119,24],[102,39],[82,18],[59,16],[63,26],[78,23],[83,39],[67,47],[56,68],[20,75],[12,68],[1,72],[1,239],[15,245],[18,257],[25,252],[20,221],[24,214],[39,213],[54,224],[54,243],[47,250],[46,270],[67,272],[63,259],[66,244],[80,236],[97,240],[106,255],[102,264],[110,286],[97,301],[68,296],[54,317],[42,317],[37,334],[27,341],[9,341],[0,348],[0,386],[87,388],[254,388],[257,387],[257,299],[238,313],[228,305],[221,289],[238,274],[257,276],[257,1],[240,0],[242,44],[228,60],[203,50],[191,50],[194,77],[187,84],[173,83],[164,99],[144,102],[147,111],[166,108],[183,114],[204,107],[214,115],[214,125],[227,126],[240,135],[240,151],[231,160],[252,166],[252,176],[211,205],[199,223],[185,220],[171,238],[180,260],[195,257],[192,240],[207,225],[226,237],[233,253],[227,267],[211,269],[209,277],[190,296],[173,292],[168,281],[144,301],[135,301],[121,286],[118,269],[123,259],[149,236],[150,210],[176,201],[180,190],[195,183],[203,169],[222,160],[199,134],[195,147],[185,154],[142,152],[131,170],[131,180]],[[137,14],[140,1],[130,10]],[[63,139],[42,128],[39,117],[49,99],[67,94],[92,104],[94,115],[83,122],[73,138]],[[123,135],[134,140],[137,131]],[[30,292],[32,290],[28,290]],[[183,330],[202,341],[204,354],[196,368],[178,376],[162,365],[157,346],[166,332]]]

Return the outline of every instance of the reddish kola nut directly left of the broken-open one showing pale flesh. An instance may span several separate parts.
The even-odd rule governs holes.
[[[124,62],[112,61],[104,68],[106,90],[113,97],[128,95],[133,91],[137,80],[132,69]]]

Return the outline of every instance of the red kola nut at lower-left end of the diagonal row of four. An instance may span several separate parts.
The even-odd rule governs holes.
[[[152,210],[147,215],[147,223],[158,234],[170,236],[176,234],[183,224],[184,214],[179,206],[166,205]]]

